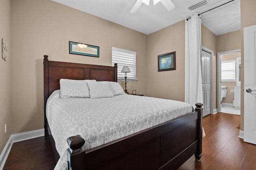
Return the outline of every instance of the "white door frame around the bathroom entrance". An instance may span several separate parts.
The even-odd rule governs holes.
[[[217,112],[221,112],[221,55],[241,52],[241,49],[235,49],[231,51],[224,51],[217,53]]]

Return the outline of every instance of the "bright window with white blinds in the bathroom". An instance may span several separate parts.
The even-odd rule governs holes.
[[[236,81],[236,61],[221,62],[221,81]]]

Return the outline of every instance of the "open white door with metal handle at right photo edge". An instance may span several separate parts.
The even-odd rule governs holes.
[[[256,144],[255,51],[256,25],[244,28],[244,141],[253,144]]]

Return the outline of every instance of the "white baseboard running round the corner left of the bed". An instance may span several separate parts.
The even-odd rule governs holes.
[[[8,155],[10,153],[13,143],[20,142],[23,140],[32,139],[32,138],[37,138],[40,136],[44,136],[44,128],[38,129],[38,130],[32,130],[32,131],[28,131],[28,132],[11,134],[9,140],[7,141],[7,143],[4,147],[4,150],[2,151],[2,153],[0,155],[0,170],[2,170],[4,168],[4,164],[8,158]]]

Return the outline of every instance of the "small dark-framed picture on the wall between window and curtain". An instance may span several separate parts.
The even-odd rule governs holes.
[[[158,71],[176,70],[175,53],[158,55]]]

